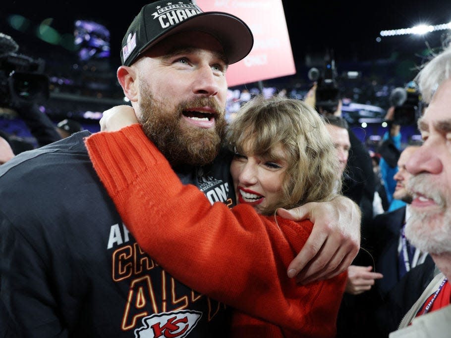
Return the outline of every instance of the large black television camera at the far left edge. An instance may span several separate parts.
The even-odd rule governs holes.
[[[0,33],[0,106],[14,107],[24,102],[41,103],[49,98],[45,61],[17,54],[17,44]]]

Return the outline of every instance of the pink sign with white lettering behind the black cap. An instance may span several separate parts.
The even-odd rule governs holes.
[[[254,35],[249,55],[229,66],[229,87],[296,73],[282,0],[196,0],[204,12],[219,11],[242,19]]]

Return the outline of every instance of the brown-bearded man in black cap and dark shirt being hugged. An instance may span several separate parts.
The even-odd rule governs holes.
[[[249,27],[231,14],[155,1],[127,29],[116,72],[146,136],[181,181],[226,204],[234,193],[230,154],[220,151],[225,75],[252,46]],[[89,135],[0,166],[3,336],[227,336],[229,308],[172,277],[130,236],[92,167],[83,142]],[[347,269],[360,242],[355,203],[338,196],[290,215],[314,227],[283,275],[307,283]]]

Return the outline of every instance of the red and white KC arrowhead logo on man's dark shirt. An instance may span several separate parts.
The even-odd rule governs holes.
[[[183,338],[197,325],[202,312],[177,311],[156,313],[143,318],[141,328],[135,330],[136,338]]]

